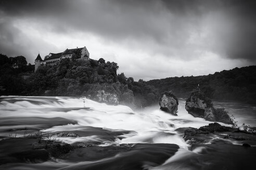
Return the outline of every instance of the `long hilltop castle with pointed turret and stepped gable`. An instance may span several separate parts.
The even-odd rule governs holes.
[[[37,55],[36,59],[35,59],[35,71],[37,70],[37,68],[41,65],[55,65],[55,64],[59,64],[59,62],[62,59],[75,59],[77,61],[86,61],[89,60],[89,52],[86,49],[86,47],[82,47],[82,48],[74,48],[74,49],[66,49],[63,52],[59,52],[59,53],[52,53],[50,52],[48,55],[45,56],[45,59],[42,60],[40,54]]]

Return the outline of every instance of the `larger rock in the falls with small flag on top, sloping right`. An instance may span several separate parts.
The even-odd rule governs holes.
[[[233,124],[224,108],[214,108],[212,101],[203,95],[200,89],[191,93],[186,100],[186,110],[194,117],[204,118],[212,122],[223,122]]]

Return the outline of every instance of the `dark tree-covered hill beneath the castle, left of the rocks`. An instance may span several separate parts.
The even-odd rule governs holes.
[[[104,59],[75,61],[61,60],[58,65],[42,65],[34,73],[34,67],[24,59],[23,65],[0,56],[0,95],[36,95],[36,96],[90,96],[92,99],[98,90],[117,94],[120,104],[145,107],[157,103],[159,93],[145,81],[134,81],[124,74],[117,75],[117,63]],[[24,79],[24,75],[30,75]]]

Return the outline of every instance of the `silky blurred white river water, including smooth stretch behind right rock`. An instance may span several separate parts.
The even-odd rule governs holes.
[[[82,127],[91,126],[109,131],[129,131],[130,133],[123,134],[121,140],[114,141],[117,144],[170,143],[186,147],[187,144],[180,135],[176,135],[175,129],[179,127],[198,128],[211,123],[189,115],[185,110],[183,99],[180,99],[178,105],[178,116],[161,111],[158,105],[134,111],[127,106],[110,106],[87,98],[2,96],[0,100],[2,122],[0,136],[8,136],[9,130],[15,131],[24,128],[37,128],[41,132],[56,133],[78,131],[83,129]],[[225,107],[229,115],[234,115],[239,126],[242,123],[256,126],[255,106],[228,102],[214,102],[214,106]],[[57,120],[55,120],[56,118]],[[47,125],[50,119],[54,121]],[[75,123],[67,123],[67,121]],[[44,129],[44,125],[48,128]],[[66,138],[63,140],[74,143],[75,141],[89,140],[88,138]],[[90,138],[90,140],[96,138],[100,141],[105,140],[101,140],[97,136]],[[104,141],[102,145],[110,144],[113,144],[113,141]]]

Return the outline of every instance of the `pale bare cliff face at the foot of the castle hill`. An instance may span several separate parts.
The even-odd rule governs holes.
[[[98,90],[96,96],[98,102],[103,102],[110,105],[119,104],[118,96],[115,93],[106,92],[105,90]]]

